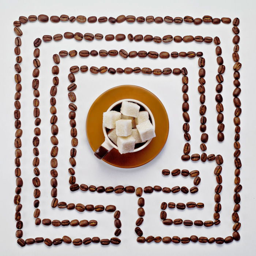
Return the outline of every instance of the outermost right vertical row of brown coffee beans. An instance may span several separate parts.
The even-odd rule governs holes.
[[[241,167],[242,167],[242,163],[241,163],[241,159],[239,158],[241,151],[240,151],[240,115],[242,112],[241,109],[241,101],[240,98],[238,98],[238,96],[241,93],[241,88],[240,88],[240,68],[241,68],[241,63],[240,61],[240,57],[238,54],[239,51],[239,42],[240,42],[240,36],[239,34],[239,29],[238,29],[238,25],[240,23],[240,20],[238,18],[235,18],[233,20],[233,25],[234,27],[232,28],[233,33],[235,34],[233,37],[233,44],[234,44],[234,49],[233,49],[233,53],[232,53],[232,58],[235,62],[233,69],[234,69],[234,81],[233,84],[236,87],[233,91],[233,102],[234,102],[234,106],[235,106],[235,112],[234,112],[234,125],[235,125],[235,136],[234,136],[234,165],[235,165],[235,180],[234,180],[234,184],[236,185],[234,188],[234,196],[233,196],[233,200],[234,200],[234,210],[233,213],[231,215],[232,220],[234,222],[234,226],[233,226],[233,238],[234,240],[240,240],[240,234],[238,233],[238,230],[241,227],[241,223],[239,215],[238,215],[238,211],[240,210],[240,202],[241,202],[241,196],[240,196],[240,191],[242,190],[242,185],[240,184],[240,173],[241,173]]]

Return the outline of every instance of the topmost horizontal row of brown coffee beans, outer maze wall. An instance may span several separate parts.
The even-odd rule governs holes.
[[[49,21],[49,16],[45,15],[45,14],[40,14],[37,16],[35,15],[30,15],[28,18],[26,16],[20,16],[19,20],[14,21],[14,26],[15,27],[19,27],[21,24],[25,24],[28,21],[30,22],[34,22],[36,20],[39,20],[40,22],[48,22]],[[138,22],[138,23],[152,23],[155,22],[157,24],[161,24],[163,22],[165,22],[166,24],[171,24],[171,23],[182,23],[182,22],[187,22],[187,23],[194,23],[195,25],[200,25],[201,23],[213,23],[213,24],[219,24],[219,23],[225,23],[225,24],[229,24],[231,23],[231,19],[230,18],[226,18],[223,17],[221,19],[219,18],[212,18],[212,16],[209,15],[204,15],[203,18],[193,18],[191,16],[185,16],[184,18],[182,17],[174,17],[172,18],[171,16],[165,16],[164,18],[161,16],[146,16],[146,18],[144,18],[143,16],[138,16],[137,18],[133,15],[119,15],[117,18],[113,18],[113,17],[109,17],[107,18],[106,16],[102,16],[97,18],[96,16],[90,16],[88,18],[86,18],[86,16],[83,15],[78,15],[78,16],[71,16],[69,17],[68,15],[62,14],[60,16],[50,16],[50,21],[53,23],[58,23],[60,21],[62,22],[75,22],[75,20],[79,23],[85,23],[86,21],[89,23],[95,23],[95,22],[99,22],[99,23],[104,23],[109,21],[111,24],[114,23],[122,23],[124,21],[128,22],[128,23],[133,23],[133,22]],[[233,22],[234,25],[234,22]],[[235,25],[234,25],[235,26]]]

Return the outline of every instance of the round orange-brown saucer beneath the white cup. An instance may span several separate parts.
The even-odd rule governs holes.
[[[134,168],[154,159],[165,146],[168,137],[169,120],[165,107],[153,93],[135,85],[121,85],[105,91],[89,109],[86,119],[86,135],[95,152],[105,140],[102,131],[103,112],[106,112],[114,102],[127,98],[141,101],[151,110],[155,119],[156,137],[147,147],[138,152],[121,155],[117,149],[113,148],[102,160],[116,167]],[[93,154],[92,156],[94,157]]]

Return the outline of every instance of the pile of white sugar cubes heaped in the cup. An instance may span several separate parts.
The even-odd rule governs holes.
[[[117,145],[120,154],[131,153],[136,143],[155,137],[148,112],[139,110],[138,104],[123,101],[120,112],[110,110],[103,113],[103,127],[110,129],[108,137]]]

